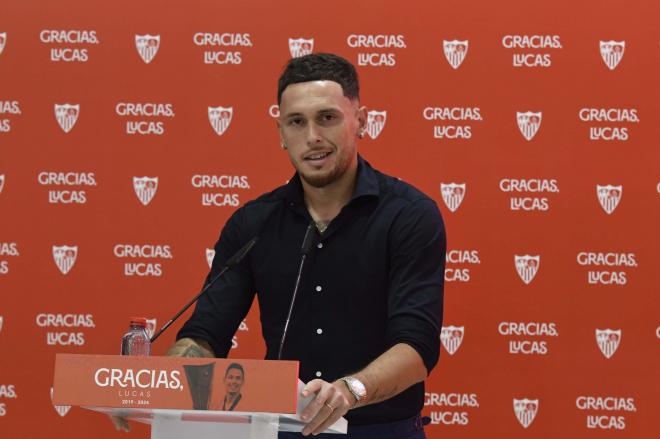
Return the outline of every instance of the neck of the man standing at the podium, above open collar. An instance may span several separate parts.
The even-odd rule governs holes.
[[[357,159],[339,180],[321,187],[313,187],[302,180],[307,210],[314,221],[330,222],[351,199],[357,182]]]

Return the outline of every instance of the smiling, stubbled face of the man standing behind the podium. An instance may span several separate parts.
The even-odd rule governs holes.
[[[365,123],[364,108],[334,81],[292,84],[282,93],[280,137],[310,186],[327,186],[356,164],[356,140]]]

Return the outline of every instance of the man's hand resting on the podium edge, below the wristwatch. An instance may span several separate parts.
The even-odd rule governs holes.
[[[328,383],[312,380],[303,389],[302,396],[316,394],[301,413],[303,421],[309,421],[302,431],[303,436],[317,435],[344,416],[357,401],[342,381]]]

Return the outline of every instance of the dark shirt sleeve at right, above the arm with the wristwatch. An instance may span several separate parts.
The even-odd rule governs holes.
[[[440,355],[446,236],[431,199],[411,202],[399,212],[390,237],[388,347],[415,349],[428,373]]]

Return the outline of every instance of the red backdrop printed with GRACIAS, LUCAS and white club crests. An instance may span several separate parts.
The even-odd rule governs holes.
[[[117,353],[195,293],[292,174],[271,106],[313,49],[358,65],[360,152],[445,218],[429,437],[657,437],[660,7],[545,3],[5,1],[2,436],[119,434],[53,410],[54,354]],[[235,345],[262,357],[254,310]]]

